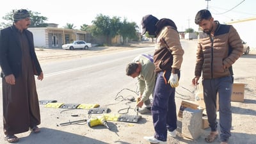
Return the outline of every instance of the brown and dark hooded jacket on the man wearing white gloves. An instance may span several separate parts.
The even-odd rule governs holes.
[[[156,27],[155,72],[170,70],[173,74],[178,74],[183,61],[184,50],[180,44],[177,27],[170,19],[160,19]]]

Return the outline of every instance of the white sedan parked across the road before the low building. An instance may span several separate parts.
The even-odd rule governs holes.
[[[64,44],[62,45],[62,49],[88,49],[89,47],[92,47],[91,43],[86,43],[83,40],[76,40],[72,42],[72,44]]]

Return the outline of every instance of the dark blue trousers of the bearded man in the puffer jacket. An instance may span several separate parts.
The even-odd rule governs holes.
[[[228,141],[232,125],[231,94],[232,77],[204,79],[204,102],[211,131],[217,131],[216,95],[219,93],[220,106],[220,140]]]

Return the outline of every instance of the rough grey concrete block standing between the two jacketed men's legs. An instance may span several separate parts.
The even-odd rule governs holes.
[[[182,136],[196,140],[201,135],[203,109],[186,108],[182,115]]]

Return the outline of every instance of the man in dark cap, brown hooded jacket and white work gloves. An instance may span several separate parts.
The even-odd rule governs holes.
[[[166,143],[167,133],[172,137],[176,136],[175,88],[179,85],[184,50],[172,20],[158,20],[153,15],[145,15],[141,25],[142,35],[147,31],[149,35],[156,36],[154,65],[157,80],[151,108],[155,133],[154,136],[145,136],[144,139],[150,143]]]

